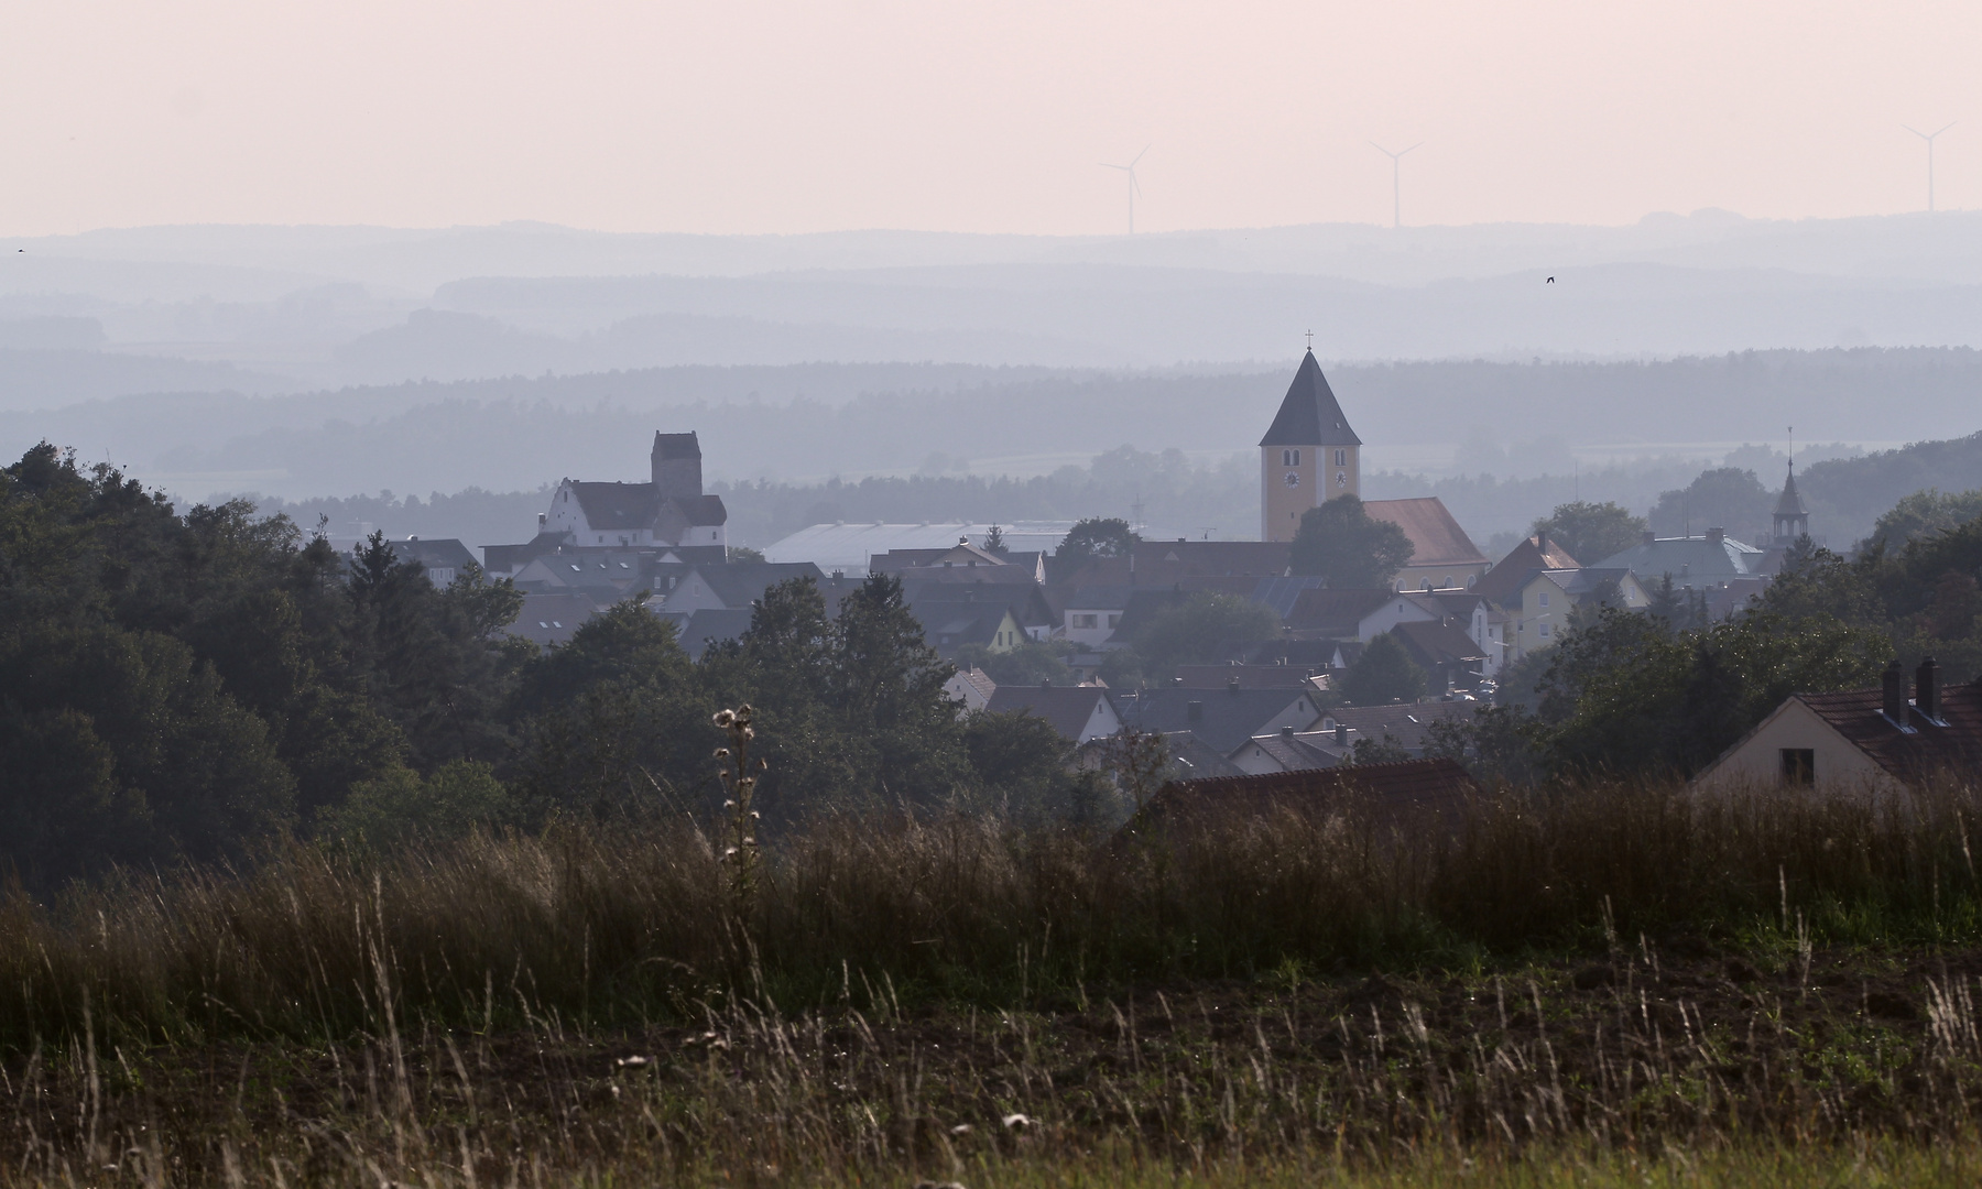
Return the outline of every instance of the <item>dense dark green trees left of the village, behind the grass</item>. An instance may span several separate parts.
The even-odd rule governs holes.
[[[48,888],[248,862],[285,834],[700,812],[719,799],[710,715],[743,702],[773,826],[1094,793],[1039,719],[957,719],[890,579],[834,616],[781,587],[700,664],[634,602],[539,652],[505,632],[519,604],[480,573],[436,589],[379,535],[341,555],[246,501],[178,515],[38,446],[0,472],[0,862]]]

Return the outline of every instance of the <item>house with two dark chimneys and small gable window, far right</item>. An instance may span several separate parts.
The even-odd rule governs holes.
[[[1940,688],[1932,658],[1895,660],[1877,690],[1796,694],[1693,779],[1697,789],[1796,785],[1891,793],[1982,769],[1982,682]]]

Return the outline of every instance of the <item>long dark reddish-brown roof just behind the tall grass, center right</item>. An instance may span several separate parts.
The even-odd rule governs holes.
[[[1455,822],[1483,795],[1451,759],[1296,769],[1163,785],[1126,826],[1138,834],[1225,826],[1282,809],[1336,814],[1356,811],[1381,822]],[[1447,824],[1451,828],[1451,824]]]

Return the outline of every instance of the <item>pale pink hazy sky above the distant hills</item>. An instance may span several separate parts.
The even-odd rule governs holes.
[[[0,234],[1120,232],[1982,206],[1982,6],[16,2]]]

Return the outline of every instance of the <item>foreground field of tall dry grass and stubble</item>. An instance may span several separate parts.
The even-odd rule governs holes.
[[[1982,795],[295,848],[0,908],[0,1183],[1968,1183]]]

